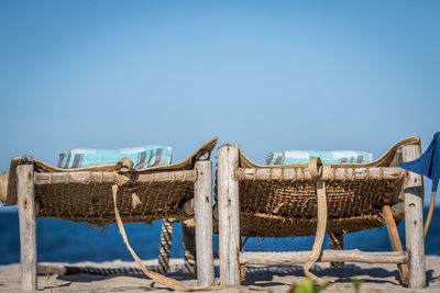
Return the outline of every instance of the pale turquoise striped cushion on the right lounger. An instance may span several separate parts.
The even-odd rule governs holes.
[[[356,150],[282,150],[267,154],[267,165],[306,164],[319,157],[324,164],[363,164],[373,160],[373,154]]]

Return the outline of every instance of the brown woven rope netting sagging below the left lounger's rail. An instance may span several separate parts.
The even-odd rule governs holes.
[[[35,185],[38,216],[96,225],[116,223],[111,183]],[[194,182],[128,182],[119,189],[118,206],[125,223],[150,223],[161,218],[190,218],[179,206],[194,196]],[[133,193],[140,204],[133,206]]]

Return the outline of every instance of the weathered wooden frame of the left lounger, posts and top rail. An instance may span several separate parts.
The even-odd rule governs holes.
[[[167,182],[173,182],[173,180],[179,180],[179,182],[186,182],[186,184],[194,184],[194,217],[198,225],[195,228],[197,237],[195,240],[193,239],[193,241],[195,241],[197,246],[197,279],[199,286],[212,285],[215,280],[211,201],[212,161],[209,159],[209,156],[216,144],[217,137],[204,144],[202,147],[183,162],[169,165],[172,167],[170,169],[166,166],[153,167],[152,172],[150,172],[148,169],[144,169],[145,172],[133,176],[129,181],[132,184],[145,184],[145,182],[167,184]],[[19,211],[22,291],[35,291],[37,289],[36,216],[38,216],[40,211],[40,204],[35,200],[36,188],[45,184],[66,184],[66,182],[67,189],[69,184],[76,187],[102,182],[114,184],[118,182],[119,176],[110,169],[106,170],[108,168],[103,168],[101,171],[88,169],[88,171],[76,171],[75,169],[70,169],[56,170],[56,172],[48,172],[46,170],[44,172],[38,172],[34,170],[34,159],[29,156],[22,157],[21,159],[13,158],[12,161],[6,202],[8,202],[7,205],[16,203]],[[38,164],[41,165],[43,162],[40,161]],[[174,168],[173,166],[177,166],[178,168]],[[46,167],[46,165],[43,167]],[[56,168],[53,169],[55,170]],[[11,170],[13,170],[12,178]],[[4,194],[2,196],[4,196]],[[185,210],[185,206],[183,209]],[[56,217],[63,218],[59,215]],[[188,218],[190,217],[191,215],[188,216]],[[127,214],[122,215],[122,218],[130,222]],[[81,222],[80,219],[75,221]],[[105,221],[109,221],[109,218]],[[114,223],[114,221],[112,223]],[[103,224],[107,224],[107,222],[103,222]]]

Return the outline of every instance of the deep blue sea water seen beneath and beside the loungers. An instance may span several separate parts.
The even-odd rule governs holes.
[[[425,210],[427,214],[427,210]],[[440,209],[435,211],[433,219],[426,240],[427,255],[440,255]],[[404,223],[398,230],[404,236]],[[125,230],[134,250],[142,259],[157,258],[161,222],[153,225],[127,224]],[[172,257],[183,257],[182,227],[174,228]],[[37,219],[38,261],[108,261],[132,260],[116,225],[106,229],[90,228],[84,223],[73,223],[56,218]],[[402,239],[405,245],[405,239]],[[306,250],[310,249],[314,237],[297,238],[251,238],[245,250]],[[324,241],[328,248],[328,240]],[[391,251],[385,227],[346,234],[346,249],[366,251]],[[215,235],[215,249],[218,249],[218,235]],[[16,212],[0,213],[0,263],[20,261],[19,217]]]

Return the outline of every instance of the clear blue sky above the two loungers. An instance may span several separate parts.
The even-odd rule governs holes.
[[[377,158],[440,131],[439,1],[1,1],[0,167],[218,136]],[[430,190],[430,183],[427,184]]]

